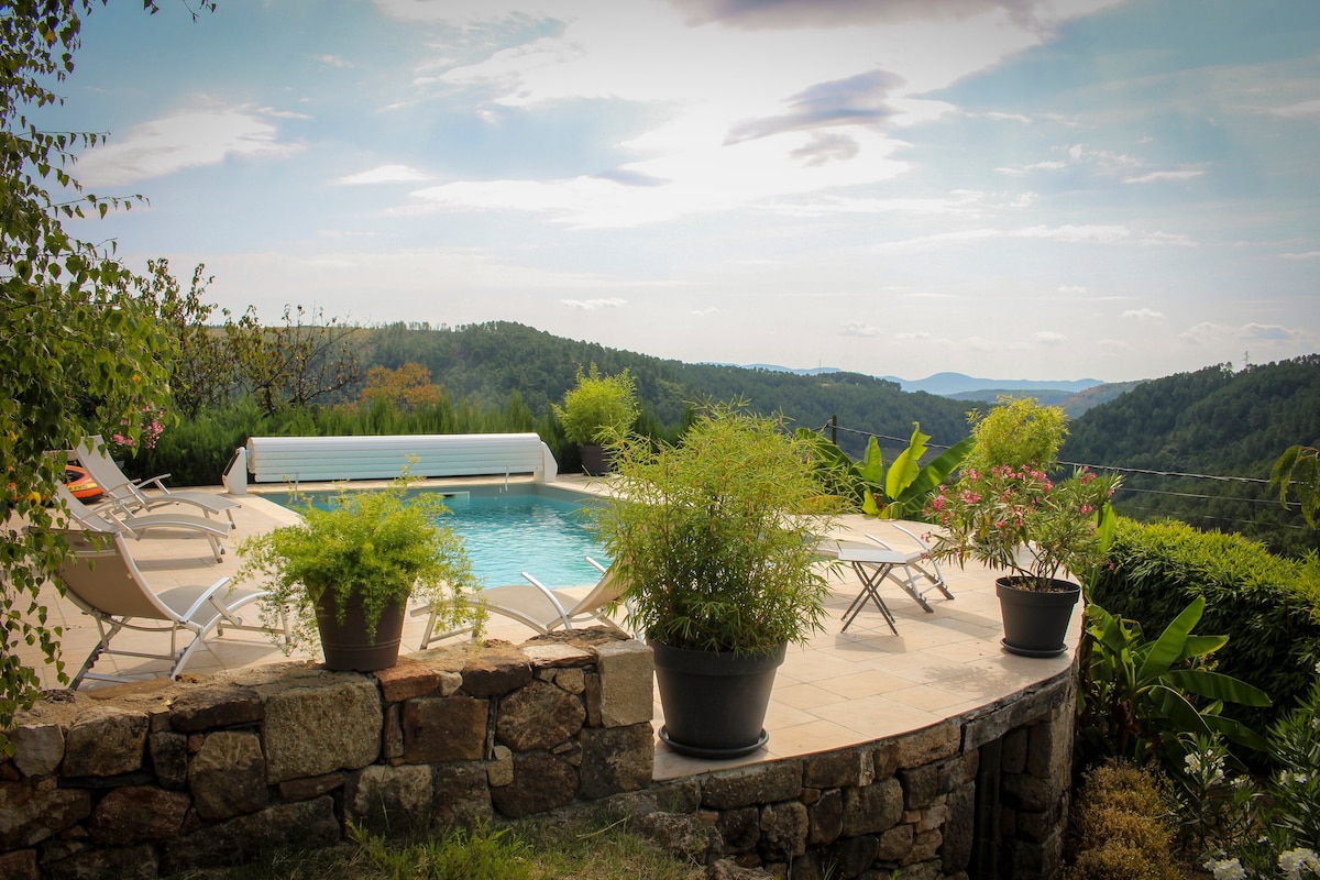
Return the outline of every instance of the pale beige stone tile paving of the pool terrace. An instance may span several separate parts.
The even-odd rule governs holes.
[[[446,484],[454,480],[445,480]],[[503,482],[503,479],[500,480]],[[561,476],[556,486],[593,491],[586,478]],[[273,487],[272,487],[273,488]],[[313,488],[313,487],[304,487]],[[220,489],[214,489],[216,493]],[[174,584],[210,584],[238,569],[238,542],[275,526],[296,521],[296,515],[259,495],[239,499],[235,512],[236,532],[228,538],[228,551],[215,563],[205,540],[160,533],[131,542],[148,581],[165,588]],[[927,528],[927,526],[917,526]],[[843,517],[837,536],[865,541],[866,533],[883,534],[895,546],[911,546],[900,532],[887,532],[888,525],[861,516]],[[917,530],[916,528],[913,530]],[[920,532],[919,532],[920,533]],[[164,536],[164,537],[162,537]],[[528,571],[536,573],[535,553],[528,555]],[[840,632],[841,619],[859,591],[853,571],[840,567],[830,574],[833,595],[828,603],[829,621],[824,632],[813,635],[805,645],[791,645],[779,669],[766,718],[770,741],[764,749],[735,760],[697,760],[680,756],[656,740],[655,778],[676,778],[711,769],[756,764],[762,761],[809,755],[859,743],[867,743],[936,724],[979,706],[1008,697],[1039,681],[1067,670],[1072,650],[1053,658],[1026,658],[1003,650],[999,640],[999,606],[994,592],[994,575],[979,566],[966,570],[944,566],[944,575],[956,599],[928,591],[933,613],[923,611],[891,582],[882,595],[894,612],[898,635],[880,613],[869,607],[849,631]],[[49,623],[63,628],[61,643],[69,672],[77,670],[87,652],[96,644],[95,621],[73,603],[57,595],[49,584],[42,591],[50,610]],[[247,616],[247,615],[246,615]],[[255,607],[251,610],[255,617]],[[408,617],[404,628],[404,652],[416,649],[424,617]],[[1076,648],[1080,631],[1080,607],[1074,611],[1068,644]],[[487,637],[520,643],[535,635],[531,629],[503,619],[492,619]],[[166,636],[123,632],[115,639],[117,648],[135,644],[158,650]],[[20,646],[29,664],[41,664],[36,649]],[[294,654],[293,658],[318,661],[318,656]],[[185,669],[186,677],[201,677],[227,669],[240,669],[288,658],[259,633],[228,632],[213,636],[199,648]],[[104,657],[96,672],[150,678],[164,674],[166,665],[132,657]],[[38,666],[46,687],[59,687],[54,669]],[[103,687],[103,682],[86,682],[84,689]],[[659,697],[653,727],[663,724]]]

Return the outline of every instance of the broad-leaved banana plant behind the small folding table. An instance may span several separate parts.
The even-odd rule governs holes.
[[[829,484],[836,487],[836,492],[859,505],[866,516],[884,520],[920,517],[927,499],[958,468],[973,446],[973,439],[965,437],[923,466],[921,458],[931,435],[923,434],[921,425],[913,422],[907,449],[899,453],[886,471],[884,456],[875,437],[867,441],[861,460],[854,462],[843,450],[814,431],[799,429],[797,435],[813,443],[817,467]]]

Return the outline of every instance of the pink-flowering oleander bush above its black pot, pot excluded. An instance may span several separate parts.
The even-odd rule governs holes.
[[[1086,468],[1060,483],[1034,464],[968,468],[927,504],[929,519],[944,526],[933,555],[960,566],[974,559],[1034,590],[1068,574],[1084,577],[1105,561],[1109,499],[1118,484],[1118,475]]]

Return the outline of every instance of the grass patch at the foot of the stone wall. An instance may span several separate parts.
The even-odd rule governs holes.
[[[185,880],[696,880],[701,867],[632,833],[626,818],[586,813],[387,840],[355,834],[339,847],[280,851]]]

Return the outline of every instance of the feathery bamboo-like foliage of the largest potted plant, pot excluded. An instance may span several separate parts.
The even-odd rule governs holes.
[[[743,404],[702,409],[680,446],[615,445],[611,497],[591,525],[648,639],[768,652],[822,627],[829,582],[816,545],[833,508],[810,449]]]

